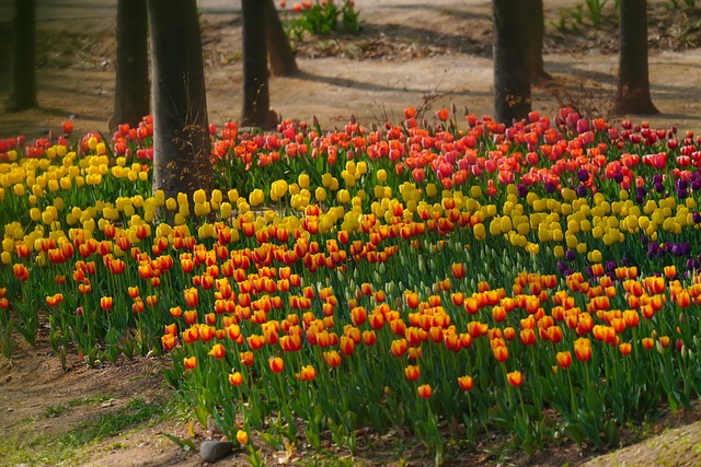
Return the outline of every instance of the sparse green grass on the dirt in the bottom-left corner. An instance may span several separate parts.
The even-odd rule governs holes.
[[[47,413],[62,413],[71,407],[71,402],[73,402],[72,407],[79,407],[97,401],[100,401],[99,397],[92,400],[76,399],[66,405],[49,407]],[[126,406],[99,415],[67,432],[38,436],[32,435],[37,431],[37,421],[32,421],[19,427],[13,435],[0,440],[0,466],[74,465],[84,460],[81,456],[83,447],[138,425],[159,423],[168,418],[168,407],[163,398],[153,400],[134,398]]]

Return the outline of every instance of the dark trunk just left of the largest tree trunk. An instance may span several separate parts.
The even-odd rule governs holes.
[[[138,126],[149,114],[148,13],[143,0],[117,3],[117,66],[113,122]]]

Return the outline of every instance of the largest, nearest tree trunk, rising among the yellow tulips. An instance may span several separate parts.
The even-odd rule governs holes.
[[[147,0],[153,73],[153,191],[212,187],[207,96],[195,0]]]

